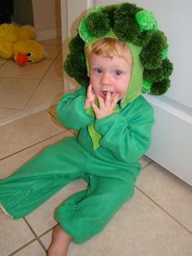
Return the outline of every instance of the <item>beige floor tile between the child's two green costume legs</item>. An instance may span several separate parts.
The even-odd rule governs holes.
[[[75,182],[69,183],[60,192],[52,196],[50,200],[46,201],[37,210],[33,211],[26,218],[28,223],[33,227],[34,232],[37,235],[41,235],[46,232],[51,227],[55,226],[54,212],[55,209],[73,193],[81,191],[86,188],[86,184],[82,180],[77,180]],[[45,221],[46,220],[46,221]]]

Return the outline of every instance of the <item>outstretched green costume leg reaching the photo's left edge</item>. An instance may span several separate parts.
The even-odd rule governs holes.
[[[0,181],[0,207],[12,218],[24,217],[64,185],[81,177],[85,158],[86,152],[76,138],[47,147]]]

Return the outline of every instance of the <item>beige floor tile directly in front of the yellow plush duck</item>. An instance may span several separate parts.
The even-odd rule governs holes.
[[[41,79],[51,64],[52,60],[41,60],[36,64],[19,66],[13,60],[7,60],[0,68],[0,77]]]

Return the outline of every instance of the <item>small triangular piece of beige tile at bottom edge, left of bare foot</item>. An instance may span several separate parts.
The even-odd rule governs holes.
[[[38,241],[34,241],[24,249],[21,249],[15,256],[46,256],[46,252],[42,249]]]

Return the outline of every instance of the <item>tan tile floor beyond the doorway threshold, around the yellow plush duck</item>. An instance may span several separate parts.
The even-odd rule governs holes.
[[[0,126],[56,104],[63,95],[61,38],[41,42],[46,58],[18,66],[0,58]]]

